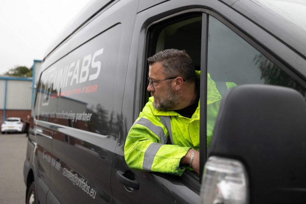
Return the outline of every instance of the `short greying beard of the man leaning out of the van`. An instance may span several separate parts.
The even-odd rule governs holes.
[[[167,94],[164,98],[160,98],[158,96],[153,95],[154,96],[153,106],[155,109],[160,111],[174,110],[174,108],[177,107],[177,105],[181,101],[181,95],[175,93],[170,85],[167,87],[167,90],[168,90]]]

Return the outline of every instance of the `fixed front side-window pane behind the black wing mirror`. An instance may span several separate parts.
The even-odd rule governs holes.
[[[296,89],[305,96],[304,87],[288,76],[282,69],[252,47],[244,39],[209,16],[207,72],[211,80],[207,80],[207,90],[212,90],[219,83],[271,84]],[[209,83],[209,82],[213,83]],[[207,143],[213,132],[220,101],[211,103],[207,94]],[[213,108],[211,106],[214,106]],[[209,135],[211,132],[211,135]]]

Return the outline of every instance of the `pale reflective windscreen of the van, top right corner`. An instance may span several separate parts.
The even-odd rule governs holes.
[[[287,44],[306,59],[304,0],[224,0],[225,4]]]

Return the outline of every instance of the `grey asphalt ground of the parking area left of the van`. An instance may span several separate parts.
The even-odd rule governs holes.
[[[25,134],[0,135],[0,203],[25,203],[23,165],[27,141]]]

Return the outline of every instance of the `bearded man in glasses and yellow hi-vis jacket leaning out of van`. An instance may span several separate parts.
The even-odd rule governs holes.
[[[184,50],[163,50],[148,58],[149,102],[125,141],[125,161],[131,169],[181,176],[186,168],[200,173],[200,72]],[[218,113],[221,95],[208,75],[207,112]],[[209,106],[213,105],[213,106]],[[209,115],[208,115],[209,117]],[[208,120],[213,118],[208,118]],[[209,121],[208,121],[209,122]],[[215,121],[207,124],[207,137]],[[211,132],[209,132],[211,131]]]

